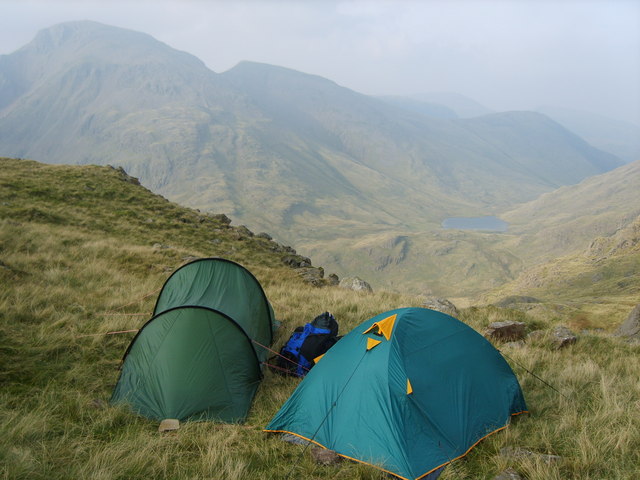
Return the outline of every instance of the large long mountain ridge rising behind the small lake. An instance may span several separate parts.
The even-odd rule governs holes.
[[[431,231],[622,164],[541,114],[433,118],[282,67],[217,74],[93,22],[0,56],[0,155],[123,166],[302,253],[320,241],[338,270],[355,238]]]

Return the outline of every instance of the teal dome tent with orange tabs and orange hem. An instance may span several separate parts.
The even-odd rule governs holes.
[[[345,335],[265,430],[431,480],[525,411],[513,371],[482,335],[449,315],[404,308]]]

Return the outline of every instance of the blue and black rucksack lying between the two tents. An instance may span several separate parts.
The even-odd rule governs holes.
[[[318,315],[311,323],[294,330],[280,349],[276,371],[304,377],[315,364],[314,360],[324,355],[338,339],[338,322],[335,317],[329,312]]]

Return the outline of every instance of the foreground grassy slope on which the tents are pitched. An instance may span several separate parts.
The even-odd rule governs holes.
[[[310,287],[283,266],[274,242],[172,204],[119,170],[0,159],[2,478],[386,478],[351,462],[316,465],[302,447],[264,434],[297,384],[270,372],[244,425],[187,423],[161,435],[155,422],[106,403],[131,336],[94,334],[138,328],[171,271],[214,255],[242,263],[260,280],[283,322],[276,346],[326,309],[346,333],[376,313],[420,303]],[[562,321],[493,307],[460,317],[477,330],[507,319],[526,321],[529,329]],[[637,346],[585,333],[561,351],[535,342],[505,351],[531,415],[481,442],[441,478],[493,478],[507,467],[530,480],[636,478]],[[509,459],[499,454],[505,446],[563,460]]]

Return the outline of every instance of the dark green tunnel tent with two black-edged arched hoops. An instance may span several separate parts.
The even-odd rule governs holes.
[[[274,322],[260,283],[241,265],[220,258],[183,265],[131,341],[111,401],[157,420],[243,421]]]

